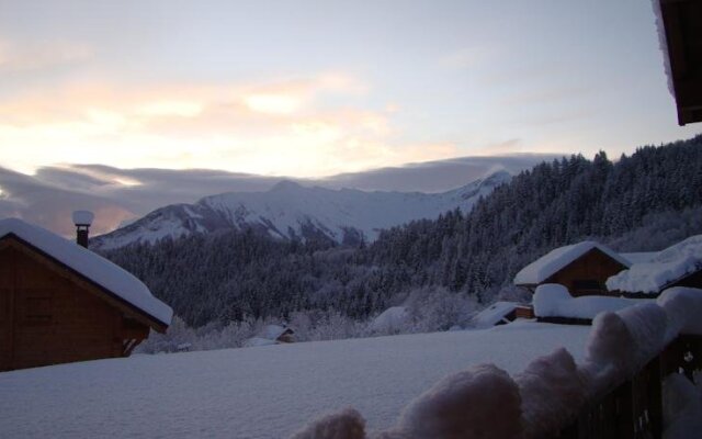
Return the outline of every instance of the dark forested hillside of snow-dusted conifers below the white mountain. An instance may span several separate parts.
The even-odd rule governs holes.
[[[189,325],[292,322],[296,312],[316,322],[341,322],[335,313],[362,320],[403,305],[433,322],[426,330],[439,330],[450,327],[438,326],[446,316],[460,320],[464,300],[525,299],[509,286],[514,274],[555,247],[597,240],[616,251],[655,251],[702,234],[700,188],[702,136],[614,162],[604,153],[543,162],[465,214],[392,227],[366,246],[230,229],[103,255]]]

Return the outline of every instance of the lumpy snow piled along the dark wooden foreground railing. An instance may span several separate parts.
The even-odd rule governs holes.
[[[632,382],[644,371],[647,383],[653,376],[660,390],[660,381],[665,378],[660,370],[663,361],[652,360],[665,357],[661,352],[677,346],[673,341],[681,335],[702,336],[701,317],[702,290],[669,289],[656,302],[598,314],[581,364],[561,348],[535,359],[514,376],[494,364],[476,365],[445,376],[419,395],[388,430],[367,432],[361,414],[349,408],[310,423],[293,438],[531,439],[559,434],[559,437],[588,437],[578,436],[577,425],[571,423],[591,415],[591,407],[601,412],[607,397],[627,393],[631,404]],[[624,383],[627,383],[625,389],[622,387]],[[672,374],[666,379],[664,394],[676,390],[688,394],[699,392],[688,379]],[[697,395],[699,398],[699,393]],[[660,399],[660,394],[654,398]],[[689,399],[697,401],[692,396]],[[702,404],[697,401],[697,405],[678,408],[684,416],[699,420],[694,410],[702,409]],[[670,407],[664,409],[671,412]],[[645,417],[648,416],[646,412]],[[631,424],[631,428],[642,428]],[[672,426],[684,429],[675,421]],[[566,427],[576,432],[568,436],[570,434],[564,430]]]

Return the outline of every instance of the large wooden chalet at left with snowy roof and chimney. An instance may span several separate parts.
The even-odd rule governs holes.
[[[21,219],[0,221],[0,371],[126,357],[171,316],[101,256]]]

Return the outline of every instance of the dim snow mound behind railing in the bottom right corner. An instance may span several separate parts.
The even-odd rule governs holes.
[[[684,375],[673,373],[663,382],[664,439],[690,439],[702,431],[702,393]]]

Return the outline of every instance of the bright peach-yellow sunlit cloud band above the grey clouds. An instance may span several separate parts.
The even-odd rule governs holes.
[[[84,81],[23,90],[0,99],[0,149],[12,150],[0,164],[24,172],[110,162],[321,177],[460,155],[451,145],[397,143],[398,106],[359,106],[355,97],[367,91],[342,72],[217,86]]]

